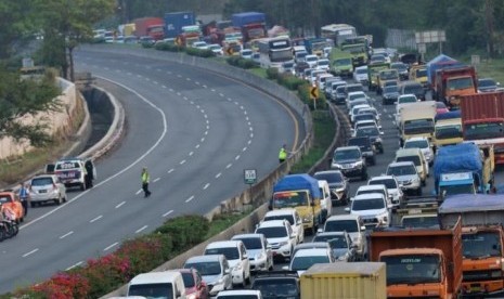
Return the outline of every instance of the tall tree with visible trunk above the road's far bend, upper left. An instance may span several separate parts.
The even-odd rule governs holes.
[[[47,36],[42,56],[49,65],[61,67],[63,77],[74,81],[75,48],[92,37],[95,22],[114,12],[116,0],[34,0],[33,5]],[[51,56],[54,58],[48,60]]]

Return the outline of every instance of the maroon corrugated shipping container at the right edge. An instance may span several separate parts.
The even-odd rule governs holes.
[[[461,101],[462,122],[484,118],[504,118],[504,92],[465,95]]]

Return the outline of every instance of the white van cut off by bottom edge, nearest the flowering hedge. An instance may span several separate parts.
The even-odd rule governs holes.
[[[184,281],[178,271],[142,273],[129,282],[127,296],[185,299]]]

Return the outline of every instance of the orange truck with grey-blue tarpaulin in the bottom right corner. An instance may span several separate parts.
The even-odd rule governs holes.
[[[462,290],[465,296],[504,295],[504,196],[458,194],[439,207],[441,226],[462,219]]]

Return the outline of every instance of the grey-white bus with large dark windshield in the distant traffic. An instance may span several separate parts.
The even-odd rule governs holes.
[[[285,62],[294,62],[293,47],[288,37],[263,38],[258,42],[261,67],[281,68]]]

